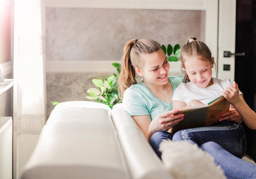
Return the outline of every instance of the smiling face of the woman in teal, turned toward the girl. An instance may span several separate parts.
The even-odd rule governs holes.
[[[143,67],[136,69],[136,72],[143,77],[144,84],[164,85],[168,83],[170,64],[162,49],[152,54],[141,54],[141,59]]]

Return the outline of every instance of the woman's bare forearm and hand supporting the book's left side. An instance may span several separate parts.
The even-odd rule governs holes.
[[[174,115],[178,110],[170,110],[168,112],[162,113],[151,122],[149,115],[143,116],[132,116],[132,119],[141,129],[146,139],[149,141],[150,137],[156,131],[168,131],[174,125],[177,125],[181,120],[183,120],[184,114]]]

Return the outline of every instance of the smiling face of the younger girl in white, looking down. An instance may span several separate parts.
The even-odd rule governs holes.
[[[184,62],[184,69],[193,84],[198,88],[206,88],[213,84],[213,63],[210,63],[209,60],[201,60],[200,58],[198,55],[187,57],[187,60]]]

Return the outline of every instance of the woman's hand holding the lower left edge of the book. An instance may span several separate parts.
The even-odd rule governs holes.
[[[179,112],[179,110],[170,110],[156,116],[156,118],[150,123],[149,131],[168,131],[170,128],[174,127],[174,125],[177,125],[181,120],[183,120],[184,116],[184,114],[174,115],[174,113],[177,112]]]

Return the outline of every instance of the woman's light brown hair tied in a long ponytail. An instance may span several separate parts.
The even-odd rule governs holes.
[[[124,91],[132,84],[137,84],[135,80],[135,68],[141,69],[144,60],[141,59],[141,54],[152,54],[159,51],[161,45],[154,40],[141,39],[129,40],[124,46],[124,54],[122,57],[123,66],[118,78],[121,98],[123,98]]]

